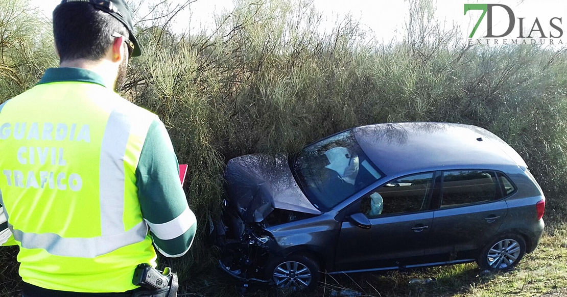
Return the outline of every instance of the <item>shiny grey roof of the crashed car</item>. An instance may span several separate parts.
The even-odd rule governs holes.
[[[357,127],[353,131],[362,150],[386,175],[459,165],[479,166],[479,169],[494,165],[527,167],[510,145],[476,126],[388,123]]]

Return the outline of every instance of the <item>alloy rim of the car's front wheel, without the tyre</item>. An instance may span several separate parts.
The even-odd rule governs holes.
[[[308,287],[311,283],[312,274],[307,266],[295,261],[286,261],[276,266],[273,272],[276,286],[282,288]]]

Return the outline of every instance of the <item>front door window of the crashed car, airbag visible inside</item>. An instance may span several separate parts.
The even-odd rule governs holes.
[[[433,173],[420,173],[391,180],[361,200],[360,212],[368,218],[409,213],[429,207]]]

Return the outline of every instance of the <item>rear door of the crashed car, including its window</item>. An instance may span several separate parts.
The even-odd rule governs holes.
[[[451,170],[441,188],[426,253],[431,262],[473,260],[506,217],[500,184],[492,170]]]

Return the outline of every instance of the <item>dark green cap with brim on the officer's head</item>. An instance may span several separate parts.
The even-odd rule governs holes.
[[[132,57],[138,57],[142,54],[142,49],[140,48],[136,37],[134,36],[134,25],[132,23],[132,11],[126,4],[124,0],[63,0],[63,3],[88,3],[93,5],[98,10],[107,12],[108,14],[114,16],[122,24],[126,26],[130,36],[128,39],[134,45],[134,50],[132,51]]]

